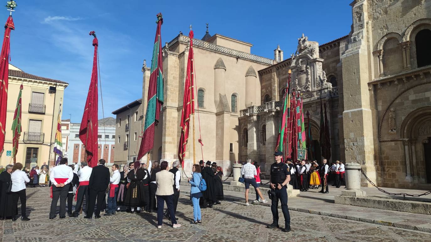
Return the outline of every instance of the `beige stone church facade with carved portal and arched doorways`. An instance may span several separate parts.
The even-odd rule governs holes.
[[[205,160],[228,171],[231,162],[251,157],[263,170],[269,168],[291,69],[304,114],[310,113],[305,122],[315,146],[320,101],[328,107],[331,161],[360,163],[379,186],[431,188],[431,0],[355,0],[350,5],[350,33],[322,45],[302,36],[285,60],[279,47],[270,60],[250,54],[251,44],[219,34],[194,40]],[[180,34],[166,43],[164,54],[166,99],[150,157],[173,161],[178,159],[187,37]],[[150,73],[147,67],[143,71],[146,100]],[[198,139],[197,132],[200,160]],[[190,153],[186,158],[191,164]],[[369,184],[363,180],[362,185]]]

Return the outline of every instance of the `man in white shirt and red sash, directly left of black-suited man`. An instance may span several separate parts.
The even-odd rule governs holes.
[[[88,189],[88,183],[90,182],[90,175],[93,168],[88,166],[88,163],[86,161],[81,162],[82,168],[78,171],[78,177],[79,177],[79,186],[76,190],[75,195],[75,212],[73,213],[75,217],[78,217],[82,203],[84,202],[85,197],[85,209],[84,213],[87,214],[88,211],[88,199],[90,199],[90,190]]]

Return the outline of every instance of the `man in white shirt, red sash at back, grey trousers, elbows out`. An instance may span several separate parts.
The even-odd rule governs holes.
[[[57,202],[60,199],[60,218],[66,217],[66,199],[69,193],[70,182],[73,179],[73,171],[67,166],[67,158],[61,158],[59,165],[53,167],[50,173],[51,186],[51,210],[50,219],[56,217]]]

